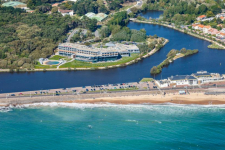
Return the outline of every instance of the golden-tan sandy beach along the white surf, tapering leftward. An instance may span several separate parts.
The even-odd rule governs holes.
[[[96,99],[84,99],[76,101],[65,101],[68,103],[115,103],[115,104],[200,104],[200,105],[218,105],[225,104],[225,95],[204,95],[204,93],[191,93],[190,95],[139,95],[139,96],[121,96],[121,97],[102,97]]]

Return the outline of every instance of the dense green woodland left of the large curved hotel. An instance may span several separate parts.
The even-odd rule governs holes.
[[[68,31],[81,22],[59,13],[23,12],[21,9],[0,7],[1,68],[32,68],[35,59],[50,56]]]

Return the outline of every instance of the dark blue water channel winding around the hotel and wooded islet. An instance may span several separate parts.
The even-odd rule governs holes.
[[[148,17],[151,13],[153,11],[143,14],[143,16]],[[176,60],[168,67],[163,68],[162,73],[155,76],[156,79],[167,78],[171,75],[191,74],[199,70],[225,72],[225,50],[209,49],[207,46],[210,43],[207,41],[159,25],[130,22],[127,26],[137,30],[144,28],[148,35],[157,34],[169,39],[170,42],[151,57],[122,68],[94,71],[0,73],[0,93],[135,82],[143,77],[154,78],[150,75],[150,69],[162,62],[171,49],[181,48],[198,49],[199,53]]]

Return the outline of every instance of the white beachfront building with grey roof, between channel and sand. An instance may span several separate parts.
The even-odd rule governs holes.
[[[171,86],[176,85],[198,85],[198,80],[190,75],[176,75],[168,78]]]

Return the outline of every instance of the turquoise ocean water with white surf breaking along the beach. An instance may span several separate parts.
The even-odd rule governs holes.
[[[225,149],[224,105],[43,103],[0,118],[0,149]]]

